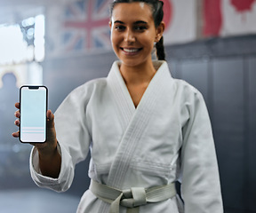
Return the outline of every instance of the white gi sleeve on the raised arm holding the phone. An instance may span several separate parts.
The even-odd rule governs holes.
[[[30,173],[36,185],[57,192],[68,190],[72,184],[76,163],[83,161],[91,143],[86,124],[88,90],[84,86],[72,91],[54,114],[58,151],[61,155],[61,168],[58,178],[45,177],[39,170],[38,153],[33,148],[30,154]]]

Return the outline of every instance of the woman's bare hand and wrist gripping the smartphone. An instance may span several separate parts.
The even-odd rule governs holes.
[[[16,126],[20,126],[20,103],[16,103],[18,109],[15,112],[17,120]],[[57,138],[54,126],[54,114],[51,110],[46,113],[47,116],[47,140],[44,143],[30,143],[35,146],[39,154],[39,166],[42,174],[49,177],[58,177],[60,174],[61,157],[57,150]],[[12,133],[14,138],[19,138],[20,131]]]

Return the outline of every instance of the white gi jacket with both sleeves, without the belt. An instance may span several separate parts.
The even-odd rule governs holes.
[[[139,106],[115,62],[107,78],[92,80],[72,91],[55,113],[61,153],[60,176],[44,177],[38,154],[30,157],[37,185],[65,191],[77,162],[91,148],[89,177],[118,189],[167,185],[180,179],[186,213],[223,212],[212,128],[204,99],[188,83],[173,79],[168,65],[157,69]],[[177,197],[140,207],[141,213],[178,213]],[[79,213],[108,212],[109,204],[87,190]],[[120,212],[126,208],[120,207]]]

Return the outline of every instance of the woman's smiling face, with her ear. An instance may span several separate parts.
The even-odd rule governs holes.
[[[113,49],[125,66],[152,63],[154,42],[161,38],[163,32],[159,35],[148,4],[116,4],[109,25]]]

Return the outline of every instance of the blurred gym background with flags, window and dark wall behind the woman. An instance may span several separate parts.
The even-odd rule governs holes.
[[[111,0],[0,0],[0,212],[76,212],[88,159],[66,193],[31,180],[31,146],[12,138],[22,84],[44,84],[55,111],[78,85],[116,60]],[[204,95],[212,119],[226,213],[256,212],[256,1],[164,0],[172,76]],[[215,212],[212,212],[215,213]]]

